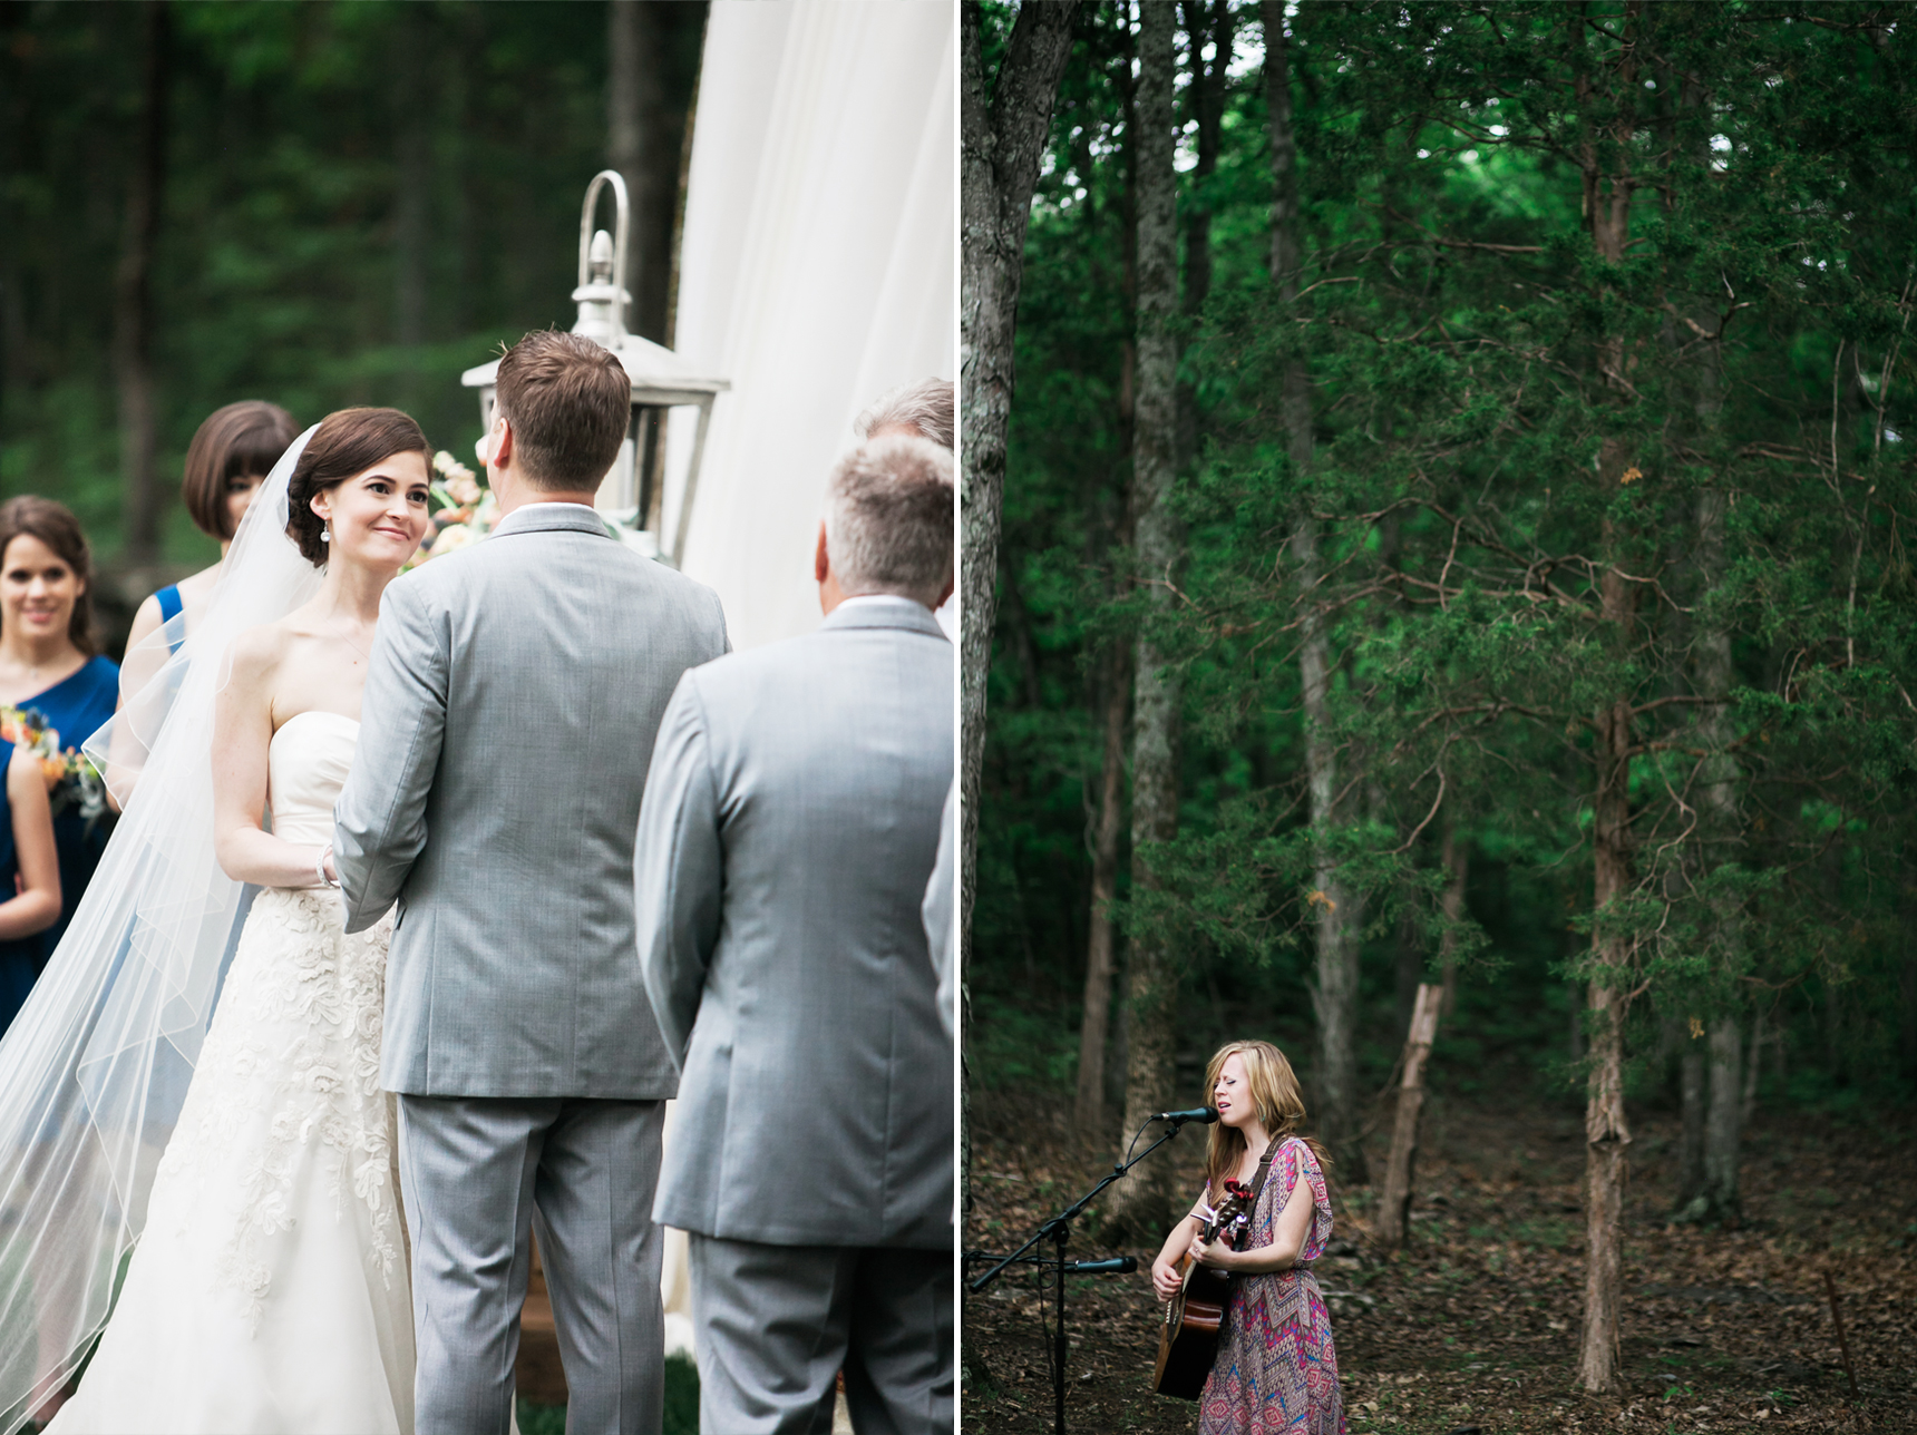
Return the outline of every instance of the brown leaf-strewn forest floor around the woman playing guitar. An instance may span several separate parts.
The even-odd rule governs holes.
[[[983,1092],[972,1105],[968,1249],[1005,1251],[1110,1171],[1068,1134],[1070,1098]],[[1382,1255],[1369,1188],[1332,1182],[1321,1282],[1353,1435],[1480,1431],[1917,1431],[1917,1140],[1904,1123],[1766,1119],[1746,1136],[1744,1224],[1672,1226],[1675,1117],[1633,1115],[1624,1247],[1624,1393],[1576,1387],[1583,1291],[1583,1125],[1568,1104],[1434,1096],[1413,1240]],[[1382,1173],[1384,1138],[1371,1153]],[[1173,1146],[1202,1184],[1204,1130]],[[1154,1157],[1158,1159],[1158,1157]],[[1332,1173],[1336,1176],[1336,1173]],[[1139,1274],[1070,1278],[1072,1431],[1192,1431],[1196,1406],[1150,1391],[1156,1245],[1114,1249],[1097,1215],[1072,1257],[1137,1255]],[[1840,1295],[1852,1401],[1823,1276]],[[976,1274],[976,1272],[974,1272]],[[1052,1429],[1051,1349],[1033,1276],[966,1295],[966,1435]],[[1043,1320],[1054,1318],[1051,1291]]]

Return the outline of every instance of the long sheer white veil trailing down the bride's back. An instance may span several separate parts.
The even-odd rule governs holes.
[[[84,1360],[146,1224],[238,939],[245,889],[213,853],[213,709],[234,636],[307,602],[286,535],[312,429],[247,510],[203,611],[127,655],[86,753],[123,816],[44,975],[0,1038],[0,1431]]]

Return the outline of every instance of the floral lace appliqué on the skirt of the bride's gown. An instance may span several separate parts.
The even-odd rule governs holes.
[[[295,1180],[314,1165],[335,1220],[353,1219],[349,1203],[366,1207],[366,1263],[391,1289],[399,1201],[380,1088],[391,931],[387,918],[347,935],[326,889],[263,891],[197,1061],[219,1081],[194,1081],[159,1163],[182,1197],[182,1232],[190,1217],[201,1224],[201,1203],[230,1207],[211,1274],[240,1293],[253,1322],[284,1249],[274,1238],[295,1226]]]

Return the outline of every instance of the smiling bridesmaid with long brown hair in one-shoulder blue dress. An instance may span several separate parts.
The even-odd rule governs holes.
[[[0,504],[0,705],[38,713],[73,753],[113,717],[119,667],[94,648],[92,559],[81,521],[50,498]],[[52,793],[59,918],[38,937],[38,964],[59,945],[113,828],[84,812],[79,784]]]

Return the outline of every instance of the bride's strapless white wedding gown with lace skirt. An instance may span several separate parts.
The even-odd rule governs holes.
[[[268,749],[274,833],[332,841],[358,722]],[[146,1234],[58,1435],[412,1431],[412,1297],[380,1025],[391,920],[261,891],[159,1163]]]

